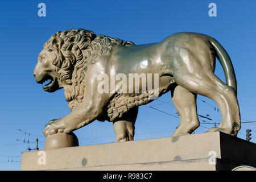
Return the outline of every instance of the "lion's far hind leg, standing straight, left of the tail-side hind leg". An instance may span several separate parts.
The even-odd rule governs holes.
[[[180,125],[172,137],[191,134],[200,125],[196,111],[196,94],[189,92],[180,85],[175,86],[171,91],[172,102],[180,114]]]

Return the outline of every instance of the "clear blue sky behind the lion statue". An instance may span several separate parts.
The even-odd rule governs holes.
[[[38,16],[38,4],[46,4],[46,17]],[[217,16],[208,15],[208,5],[217,5]],[[237,76],[238,101],[242,122],[256,121],[255,30],[256,1],[4,1],[1,2],[1,86],[0,86],[0,170],[19,170],[21,152],[27,147],[43,149],[43,129],[53,118],[68,114],[64,90],[47,93],[32,75],[43,43],[57,31],[85,28],[96,34],[131,40],[135,44],[159,42],[175,32],[191,31],[207,34],[225,47]],[[216,75],[224,80],[217,62]],[[220,121],[217,105],[198,97],[198,113],[209,114]],[[203,102],[203,101],[205,102]],[[163,102],[168,104],[163,104]],[[179,125],[170,93],[141,106],[135,124],[135,139],[169,137]],[[214,120],[215,119],[215,120]],[[201,121],[204,122],[204,121]],[[204,133],[212,124],[201,124],[195,133]],[[28,134],[24,134],[22,131]],[[256,123],[242,123],[238,137],[246,138],[251,129],[256,141]],[[112,123],[95,121],[75,131],[80,145],[114,142]],[[137,134],[137,135],[136,135]],[[16,157],[19,156],[19,157]]]

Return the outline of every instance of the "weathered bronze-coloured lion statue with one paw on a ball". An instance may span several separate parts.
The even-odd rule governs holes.
[[[226,84],[214,75],[216,57],[224,69]],[[127,86],[122,84],[123,88],[117,81],[114,92],[99,92],[102,80],[98,76],[111,77],[113,73],[127,77],[131,73],[153,74],[158,79],[157,88],[154,88],[158,97],[171,90],[172,101],[181,117],[172,136],[191,134],[199,127],[197,94],[211,98],[220,107],[222,121],[208,132],[221,131],[236,136],[241,128],[233,65],[228,53],[215,39],[180,32],[159,43],[135,45],[77,29],[52,35],[38,56],[34,69],[36,82],[43,84],[51,80],[43,86],[47,92],[64,88],[65,100],[72,111],[49,122],[44,135],[70,133],[97,119],[113,122],[117,142],[133,140],[138,106],[153,101],[149,97],[153,92],[147,88],[142,92],[142,81],[132,85],[127,81]],[[139,92],[118,92],[118,86],[118,89],[139,89]],[[108,90],[106,85],[104,89]]]

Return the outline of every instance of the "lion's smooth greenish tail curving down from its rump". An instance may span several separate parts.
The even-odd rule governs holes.
[[[215,39],[210,39],[210,43],[214,47],[214,49],[217,52],[217,58],[221,63],[221,66],[224,70],[225,78],[226,78],[226,84],[234,88],[237,94],[237,80],[236,75],[234,73],[234,68],[232,65],[232,62],[230,60],[230,57],[226,50],[221,46],[220,43],[217,42]]]

